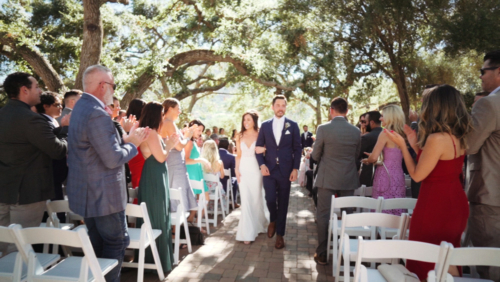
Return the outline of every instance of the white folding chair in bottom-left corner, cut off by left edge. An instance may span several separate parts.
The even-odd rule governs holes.
[[[18,244],[14,229],[21,229],[21,225],[0,226],[0,242],[16,244],[18,250],[0,258],[0,281],[26,281],[27,279],[28,258],[33,249],[31,245],[23,246]],[[43,269],[55,264],[60,258],[58,254],[43,253],[37,254],[37,257]]]

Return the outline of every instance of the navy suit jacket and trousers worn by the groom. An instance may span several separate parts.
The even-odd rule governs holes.
[[[270,221],[276,222],[276,233],[285,235],[286,214],[290,199],[290,174],[299,169],[301,157],[300,131],[296,122],[285,118],[281,139],[276,144],[273,119],[262,123],[256,146],[265,146],[265,156],[257,154],[259,166],[266,165],[271,175],[264,176],[264,190]]]

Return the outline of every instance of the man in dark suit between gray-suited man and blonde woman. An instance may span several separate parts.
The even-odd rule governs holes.
[[[371,163],[362,164],[361,161],[366,158],[365,153],[371,153],[375,144],[377,144],[378,136],[382,132],[380,117],[379,111],[371,111],[364,115],[366,122],[365,130],[367,133],[361,136],[361,151],[359,152],[357,165],[361,167],[359,182],[361,185],[366,185],[367,187],[373,185],[374,168]]]

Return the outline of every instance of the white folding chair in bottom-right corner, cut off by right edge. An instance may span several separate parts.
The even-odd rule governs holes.
[[[496,266],[500,267],[500,248],[453,248],[453,245],[447,243],[449,247],[448,255],[444,263],[444,269],[448,270],[450,265],[456,266]],[[443,271],[440,282],[486,282],[487,279],[471,277],[452,277],[447,271]],[[429,281],[431,282],[431,281]]]

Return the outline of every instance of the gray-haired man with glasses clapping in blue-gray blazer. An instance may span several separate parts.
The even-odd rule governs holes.
[[[71,114],[67,193],[71,210],[84,217],[97,257],[118,260],[106,281],[120,281],[120,268],[128,237],[124,164],[137,155],[148,129],[132,127],[118,136],[105,110],[116,88],[111,71],[94,65],[83,74],[84,94]]]

